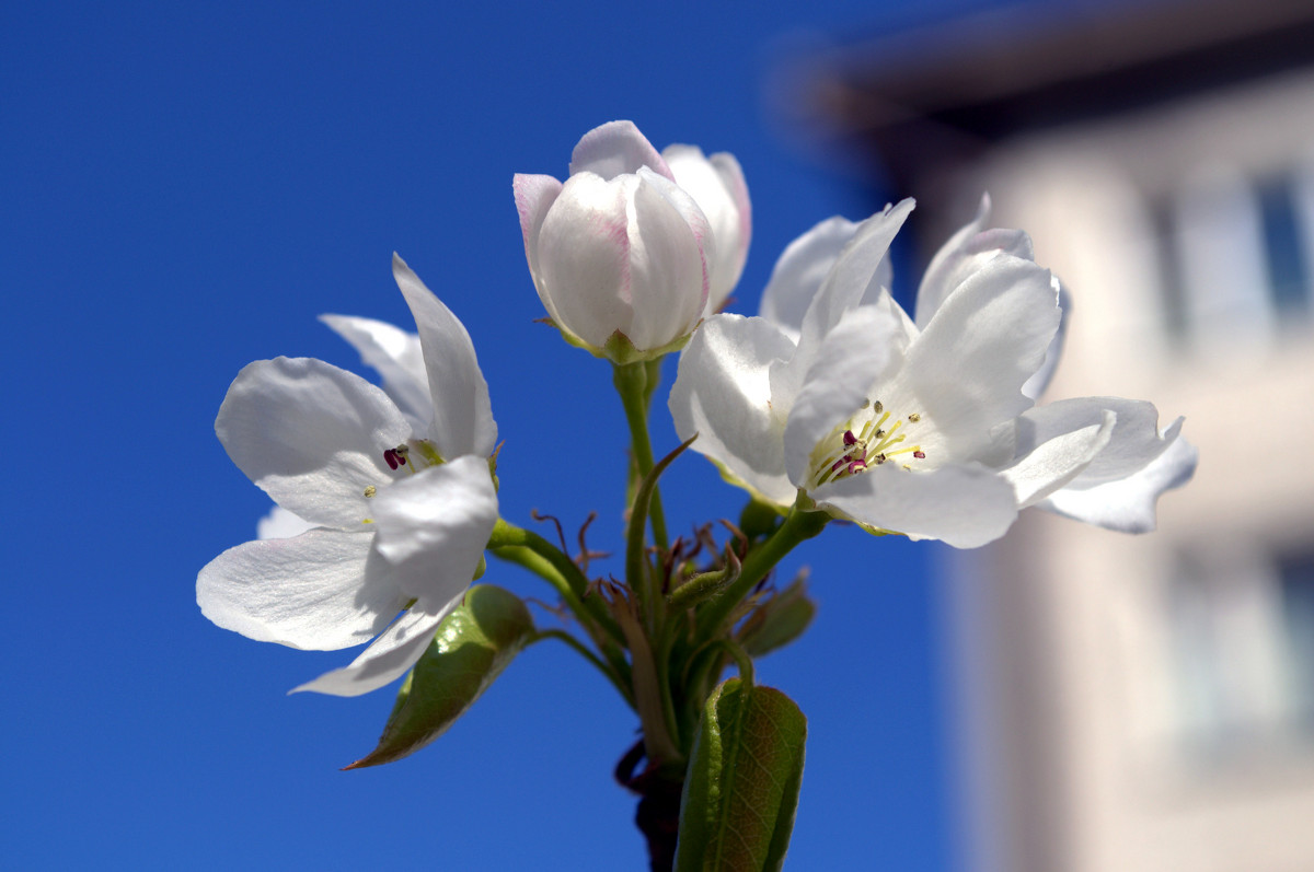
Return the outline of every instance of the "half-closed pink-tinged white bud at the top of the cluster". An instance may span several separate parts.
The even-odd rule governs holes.
[[[668,154],[671,163],[632,122],[612,121],[579,141],[565,183],[512,183],[539,298],[568,339],[612,360],[683,341],[710,301],[729,294],[748,252],[735,159],[689,146]]]

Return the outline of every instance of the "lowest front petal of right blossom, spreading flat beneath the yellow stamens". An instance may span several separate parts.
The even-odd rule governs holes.
[[[819,504],[909,538],[938,538],[954,548],[992,542],[1017,519],[1013,487],[978,466],[921,473],[887,462],[817,489]]]

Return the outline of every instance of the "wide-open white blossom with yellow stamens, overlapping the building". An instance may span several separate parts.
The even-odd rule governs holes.
[[[1029,506],[1141,532],[1196,450],[1144,402],[1034,406],[1053,372],[1060,290],[986,204],[932,260],[913,320],[890,295],[905,200],[795,240],[763,294],[770,316],[717,315],[679,361],[682,439],[761,499],[799,492],[874,532],[989,542]]]

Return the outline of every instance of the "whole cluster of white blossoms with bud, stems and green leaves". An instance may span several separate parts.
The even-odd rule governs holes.
[[[832,519],[958,548],[999,538],[1029,507],[1144,532],[1159,496],[1194,471],[1181,420],[1160,428],[1147,402],[1037,404],[1067,293],[1026,234],[987,229],[988,200],[930,261],[912,316],[891,295],[888,257],[912,200],[815,226],[745,316],[721,311],[752,236],[733,156],[658,152],[616,121],[579,141],[564,183],[516,175],[512,192],[549,320],[614,366],[632,440],[618,489],[623,578],[589,575],[583,531],[572,556],[565,536],[558,548],[501,517],[498,431],[474,347],[399,257],[417,334],[323,316],[381,386],[318,360],[256,361],[215,420],[277,506],[256,541],[201,570],[205,616],[293,647],[368,643],[298,691],[355,696],[410,672],[378,746],[348,768],[434,741],[519,650],[556,638],[637,714],[641,738],[616,777],[644,797],[653,868],[669,868],[677,831],[679,868],[724,851],[752,855],[735,868],[779,868],[805,720],[754,686],[753,658],[802,634],[815,611],[802,579],[770,583],[784,554]],[[681,349],[668,408],[685,443],[657,460],[660,361]],[[749,492],[723,542],[711,523],[666,533],[658,479],[690,447]],[[470,587],[486,556],[548,583],[562,626],[540,630],[535,600]],[[721,682],[731,666],[740,678]],[[741,754],[762,764],[735,771]],[[682,797],[678,821],[670,797]]]

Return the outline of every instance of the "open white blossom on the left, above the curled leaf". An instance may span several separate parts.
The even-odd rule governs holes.
[[[314,527],[213,559],[196,583],[202,613],[292,647],[374,640],[297,691],[356,696],[406,672],[464,595],[498,516],[497,424],[469,335],[396,256],[393,274],[431,387],[423,427],[359,376],[286,357],[246,366],[214,423],[238,468]]]

